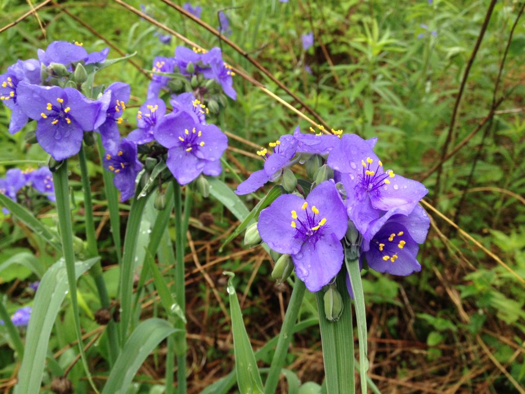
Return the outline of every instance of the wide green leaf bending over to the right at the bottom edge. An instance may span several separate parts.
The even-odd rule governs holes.
[[[166,320],[151,318],[135,328],[122,352],[117,358],[102,394],[125,394],[140,366],[159,345],[159,343],[177,331]]]

